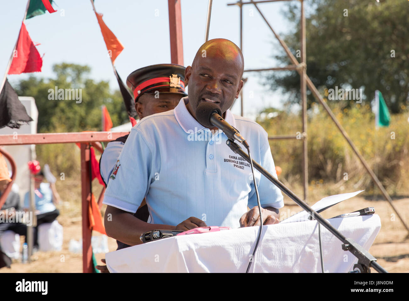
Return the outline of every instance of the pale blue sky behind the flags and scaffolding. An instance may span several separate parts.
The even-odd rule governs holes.
[[[239,8],[227,6],[236,0],[213,0],[209,39],[227,38],[237,45],[240,43]],[[0,28],[2,46],[0,48],[0,70],[4,75],[7,62],[18,37],[24,15],[26,0],[2,1]],[[286,2],[259,4],[267,20],[276,32],[298,26],[289,24],[281,11]],[[166,0],[95,0],[96,10],[103,14],[106,25],[124,45],[124,50],[115,61],[119,75],[126,77],[138,68],[157,63],[170,63],[168,2]],[[182,0],[182,30],[184,66],[191,64],[196,51],[204,42],[207,0]],[[25,21],[27,31],[43,57],[41,73],[37,77],[54,77],[52,65],[67,62],[91,67],[90,77],[96,81],[110,82],[117,89],[105,43],[97,18],[89,0],[56,0],[54,14],[36,16]],[[155,16],[155,13],[159,16]],[[273,53],[283,52],[273,49],[275,38],[253,5],[243,6],[243,54],[245,69],[269,68],[277,66],[271,58]],[[28,75],[9,75],[11,84]],[[279,92],[267,91],[259,84],[257,72],[245,73],[248,77],[244,87],[245,116],[254,115],[266,106],[281,107],[283,97]],[[249,99],[250,92],[254,94]],[[29,95],[27,95],[29,96]],[[236,102],[233,113],[240,114],[240,104]]]

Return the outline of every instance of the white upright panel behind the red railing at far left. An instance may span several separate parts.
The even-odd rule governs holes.
[[[37,133],[37,121],[38,121],[38,110],[36,102],[33,97],[18,97],[20,102],[25,107],[27,114],[33,119],[33,121],[28,124],[24,123],[20,129],[11,129],[9,127],[3,127],[0,129],[0,135],[18,135],[20,134],[36,134]],[[20,195],[20,201],[24,200],[24,195],[27,190],[30,190],[30,174],[28,170],[28,161],[34,160],[36,158],[36,148],[35,145],[6,145],[4,149],[11,154],[14,161],[16,161],[17,174],[16,180],[14,181],[13,189],[18,189],[18,194]],[[7,161],[7,160],[6,160]],[[11,171],[11,166],[7,161],[7,166]]]

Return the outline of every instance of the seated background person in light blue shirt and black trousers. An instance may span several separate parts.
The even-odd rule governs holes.
[[[44,223],[52,223],[60,215],[55,204],[59,204],[60,196],[55,187],[55,183],[43,183],[44,174],[40,170],[36,174],[31,171],[31,179],[34,181],[35,195],[35,211],[37,216],[37,226],[33,228],[34,232],[34,248],[38,249],[38,226]],[[24,197],[25,210],[29,211],[30,207],[30,192],[27,192]]]

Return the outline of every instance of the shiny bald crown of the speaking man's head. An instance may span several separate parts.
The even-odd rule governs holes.
[[[244,71],[244,58],[240,48],[232,41],[225,38],[214,38],[200,46],[193,59],[192,68],[195,68],[198,61],[206,58],[223,59],[235,63],[241,70],[241,75]]]

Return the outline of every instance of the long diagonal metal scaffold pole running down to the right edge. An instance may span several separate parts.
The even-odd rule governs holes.
[[[254,1],[252,0],[252,2],[254,3]],[[287,53],[288,57],[290,58],[290,60],[292,61],[292,63],[294,65],[296,65],[297,59],[294,57],[294,55],[291,53],[290,49],[287,47],[287,45],[285,44],[285,42],[283,40],[281,40],[281,38],[276,34],[276,32],[274,32],[274,29],[271,27],[270,23],[268,23],[268,21],[266,20],[266,18],[264,17],[264,15],[261,13],[260,9],[258,9],[257,5],[254,4],[254,6],[256,7],[256,9],[258,10],[258,12],[260,13],[261,17],[264,19],[265,23],[267,23],[268,27],[270,27],[271,31],[273,32],[274,36],[277,38],[277,40],[279,40],[281,46],[284,48],[285,53]],[[389,196],[388,192],[385,190],[385,188],[382,186],[382,183],[379,181],[379,179],[376,177],[376,175],[373,173],[373,171],[371,170],[371,167],[369,167],[368,163],[366,163],[364,157],[361,156],[360,152],[358,151],[358,149],[355,147],[355,145],[353,144],[351,138],[349,138],[348,134],[346,133],[346,131],[344,130],[344,128],[341,126],[341,124],[338,122],[337,118],[335,118],[335,115],[332,113],[331,109],[329,108],[328,104],[326,104],[326,102],[324,102],[321,94],[319,94],[317,88],[315,88],[314,84],[312,83],[311,79],[307,76],[307,75],[303,75],[303,72],[301,69],[297,69],[297,72],[304,77],[304,79],[307,82],[307,86],[310,89],[310,91],[312,92],[312,94],[314,95],[314,97],[322,104],[322,106],[324,106],[324,109],[327,111],[328,115],[330,115],[331,119],[333,120],[333,122],[335,123],[335,125],[338,127],[339,131],[341,132],[341,134],[344,136],[345,140],[348,142],[348,144],[351,146],[351,148],[353,149],[353,151],[355,152],[355,154],[357,155],[357,157],[360,159],[362,165],[364,165],[365,169],[368,171],[369,175],[371,176],[371,178],[373,179],[373,181],[375,181],[376,185],[378,186],[378,188],[381,190],[382,194],[384,195],[385,199],[387,199],[387,201],[389,201],[389,204],[391,204],[391,207],[393,208],[393,210],[395,211],[396,215],[398,215],[400,221],[402,222],[403,226],[405,226],[406,230],[409,232],[409,227],[407,226],[407,224],[405,223],[405,221],[402,219],[402,217],[400,216],[400,214],[398,213],[398,210],[395,208],[395,206],[392,203],[392,199]]]

